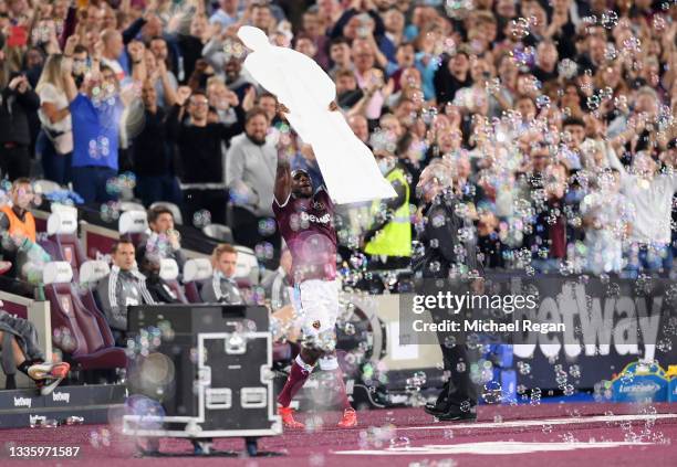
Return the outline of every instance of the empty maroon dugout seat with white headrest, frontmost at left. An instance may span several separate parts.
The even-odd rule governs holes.
[[[72,341],[55,342],[74,363],[74,370],[125,368],[127,358],[114,347],[113,335],[104,317],[90,311],[72,284],[73,270],[66,262],[48,263],[43,270],[46,299],[51,306],[52,329],[69,330]]]

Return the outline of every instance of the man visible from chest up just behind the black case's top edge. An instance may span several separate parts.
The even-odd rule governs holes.
[[[221,244],[211,253],[213,276],[205,282],[200,297],[206,304],[243,304],[242,295],[235,282],[238,251],[231,245]]]

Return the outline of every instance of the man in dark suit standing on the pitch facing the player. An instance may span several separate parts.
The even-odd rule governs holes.
[[[420,176],[417,191],[425,201],[424,222],[417,226],[418,241],[424,247],[423,255],[414,259],[413,268],[418,278],[447,279],[456,294],[469,288],[477,289],[478,267],[475,235],[459,232],[472,229],[467,217],[456,214],[461,201],[450,190],[451,173],[446,162],[434,162]],[[459,246],[462,245],[462,248]],[[458,273],[458,274],[456,274]],[[457,275],[460,279],[449,279]],[[454,283],[454,284],[452,284]],[[427,289],[427,288],[426,288]],[[419,290],[417,289],[417,294]],[[449,310],[431,309],[435,322],[449,319]],[[450,374],[435,404],[427,404],[425,411],[440,421],[472,421],[477,418],[477,391],[470,381],[470,361],[465,343],[455,343],[448,332],[437,332],[444,355],[445,371]]]

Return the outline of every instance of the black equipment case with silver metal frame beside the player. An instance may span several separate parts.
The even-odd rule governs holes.
[[[124,415],[123,433],[194,441],[282,433],[265,307],[142,305],[128,309],[131,336],[167,321],[174,338],[155,349],[175,367],[175,379],[160,400],[164,414],[152,426],[148,416]]]

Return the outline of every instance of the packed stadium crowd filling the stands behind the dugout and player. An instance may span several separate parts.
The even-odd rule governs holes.
[[[441,188],[436,202],[462,201],[458,234],[485,268],[668,274],[676,19],[667,0],[4,0],[0,170],[105,209],[131,182],[146,206],[177,204],[196,224],[206,210],[278,259],[278,152],[322,176],[243,68],[237,31],[250,24],[330,74],[396,189],[344,210],[346,269],[421,255],[416,187],[437,161],[420,182]]]

